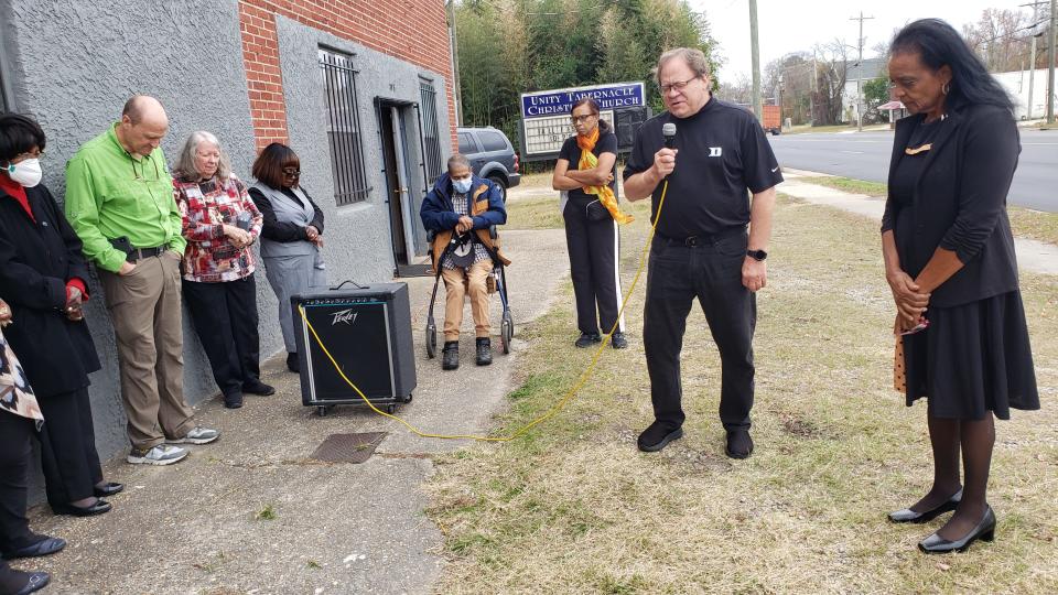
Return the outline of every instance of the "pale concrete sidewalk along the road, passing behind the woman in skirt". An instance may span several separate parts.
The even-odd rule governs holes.
[[[786,182],[778,187],[781,193],[809,203],[855,213],[882,223],[882,214],[885,212],[884,198],[842,192],[829,186],[801,181],[805,177],[829,177],[828,174],[823,173],[784,167],[782,176]],[[1034,273],[1058,274],[1058,246],[1015,237],[1014,249],[1017,251],[1018,268]]]

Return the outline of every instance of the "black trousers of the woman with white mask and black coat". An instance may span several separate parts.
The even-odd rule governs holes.
[[[96,452],[88,387],[48,397],[37,394],[36,400],[45,420],[40,439],[47,502],[55,506],[91,497],[95,485],[102,482],[102,468]]]

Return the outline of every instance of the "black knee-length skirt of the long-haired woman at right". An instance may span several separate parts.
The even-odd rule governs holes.
[[[908,407],[926,398],[930,415],[958,420],[1039,409],[1021,292],[931,307],[926,318],[928,328],[904,337]]]

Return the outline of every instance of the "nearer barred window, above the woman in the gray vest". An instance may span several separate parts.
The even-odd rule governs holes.
[[[356,74],[349,56],[320,48],[320,67],[327,98],[327,141],[334,173],[334,201],[338,206],[367,198]]]

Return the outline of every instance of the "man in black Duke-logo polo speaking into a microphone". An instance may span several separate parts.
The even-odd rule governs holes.
[[[659,216],[668,181],[650,246],[643,323],[656,420],[639,435],[638,445],[660,451],[683,435],[680,350],[697,296],[720,349],[726,453],[745,458],[753,452],[755,292],[767,282],[765,250],[775,186],[782,175],[753,115],[712,97],[709,63],[701,51],[666,52],[656,72],[668,111],[639,129],[624,172],[629,201],[654,198],[651,220]],[[676,125],[674,149],[665,148],[662,136],[670,122]]]

